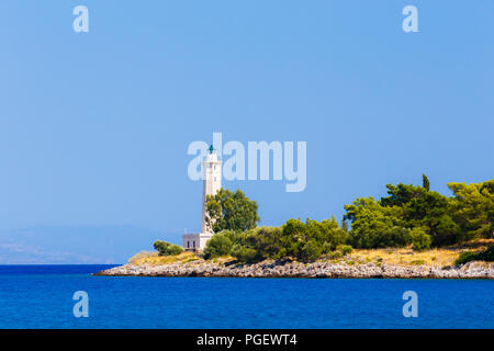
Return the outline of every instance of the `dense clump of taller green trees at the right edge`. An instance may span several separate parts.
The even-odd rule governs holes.
[[[360,197],[345,205],[344,219],[351,223],[351,245],[383,248],[413,244],[415,250],[426,250],[472,238],[493,238],[494,180],[469,185],[449,183],[454,197],[430,191],[429,186],[423,174],[423,186],[388,184],[388,196],[379,201]],[[415,228],[420,234],[412,236]],[[409,235],[405,229],[412,230]]]

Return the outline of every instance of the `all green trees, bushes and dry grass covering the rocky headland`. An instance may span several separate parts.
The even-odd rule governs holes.
[[[494,180],[448,186],[453,196],[431,191],[423,174],[422,186],[388,184],[388,195],[380,200],[359,197],[345,205],[340,225],[335,217],[321,222],[292,218],[280,227],[257,227],[257,203],[239,190],[222,189],[207,197],[207,223],[216,234],[206,244],[204,258],[248,263],[291,258],[452,264],[461,245],[474,240],[483,244],[484,251],[464,252],[457,262],[492,261]],[[155,248],[160,256],[181,252],[162,241]]]

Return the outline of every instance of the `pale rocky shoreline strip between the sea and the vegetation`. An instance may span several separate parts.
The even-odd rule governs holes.
[[[474,261],[462,267],[302,263],[263,261],[255,264],[189,262],[169,264],[127,263],[93,275],[105,276],[216,276],[216,278],[382,278],[382,279],[494,279],[494,263]]]

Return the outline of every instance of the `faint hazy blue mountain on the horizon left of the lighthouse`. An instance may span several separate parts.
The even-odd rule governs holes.
[[[180,233],[134,226],[40,226],[0,233],[0,264],[125,263],[153,242],[179,242]]]

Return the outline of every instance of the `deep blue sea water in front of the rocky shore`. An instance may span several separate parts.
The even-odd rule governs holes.
[[[0,265],[0,328],[494,328],[494,281],[90,275],[110,267]]]

